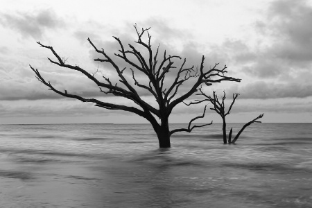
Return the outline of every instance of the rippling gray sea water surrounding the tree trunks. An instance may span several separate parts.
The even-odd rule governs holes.
[[[0,207],[312,207],[312,123],[220,133],[159,149],[145,124],[0,125]]]

